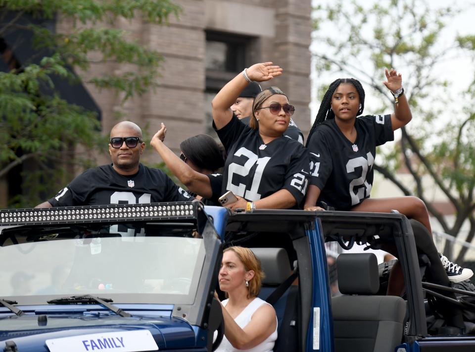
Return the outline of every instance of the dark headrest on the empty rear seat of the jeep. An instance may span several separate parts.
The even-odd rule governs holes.
[[[336,259],[338,289],[344,295],[374,295],[380,289],[374,253],[342,253]]]

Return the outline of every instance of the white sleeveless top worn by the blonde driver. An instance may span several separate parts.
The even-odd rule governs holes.
[[[228,304],[228,301],[229,300],[224,300],[222,302],[223,305],[226,306],[226,304]],[[236,321],[239,327],[243,329],[251,321],[252,314],[254,314],[254,312],[262,304],[269,304],[269,303],[256,297],[252,302],[247,304],[247,306],[239,313],[239,315],[234,319],[234,321]],[[276,321],[277,321],[277,316],[276,316]],[[215,332],[215,338],[216,338],[216,332]],[[276,330],[267,339],[265,339],[259,345],[253,347],[250,350],[235,349],[233,345],[231,345],[231,343],[228,341],[226,336],[223,336],[223,341],[219,345],[216,352],[272,352],[272,349],[274,348],[274,344],[276,340],[277,340],[277,325],[276,325]]]

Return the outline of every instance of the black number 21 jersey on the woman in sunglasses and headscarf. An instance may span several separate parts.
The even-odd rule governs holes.
[[[234,114],[217,133],[228,152],[223,194],[232,191],[247,201],[257,201],[285,189],[300,204],[308,185],[309,160],[305,147],[284,136],[266,145],[259,131],[242,123]]]

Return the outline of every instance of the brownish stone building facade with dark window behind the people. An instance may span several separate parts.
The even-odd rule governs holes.
[[[159,87],[155,91],[127,101],[97,92],[89,87],[102,110],[102,127],[108,133],[123,113],[150,136],[164,122],[167,145],[179,151],[184,139],[210,133],[211,100],[217,91],[244,67],[255,62],[273,61],[285,74],[272,80],[296,107],[293,119],[304,132],[310,128],[310,0],[177,0],[183,12],[169,18],[168,25],[155,25],[136,19],[117,26],[149,48],[164,56]],[[120,67],[95,64],[88,78],[104,70]],[[267,87],[270,84],[264,83]],[[149,137],[150,137],[149,136]],[[145,161],[158,162],[150,151]],[[107,162],[107,156],[98,163]]]

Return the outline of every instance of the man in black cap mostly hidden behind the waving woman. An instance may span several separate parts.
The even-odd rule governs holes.
[[[251,82],[247,85],[246,88],[242,90],[242,92],[239,94],[238,99],[236,99],[236,102],[231,106],[231,110],[233,110],[235,115],[242,122],[249,124],[252,115],[252,104],[254,102],[254,98],[261,91],[261,86],[259,86],[256,82]],[[295,122],[293,122],[292,119],[290,119],[290,123],[288,124],[284,136],[294,139],[303,144],[302,131],[300,131],[300,129],[297,127],[297,125],[295,124]]]

